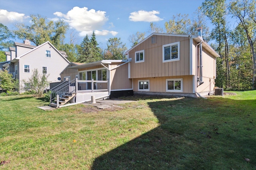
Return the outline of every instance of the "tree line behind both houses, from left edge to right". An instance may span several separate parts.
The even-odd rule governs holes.
[[[176,14],[163,27],[151,22],[146,32],[130,35],[132,46],[150,33],[197,34],[203,27],[203,38],[220,55],[217,58],[216,86],[231,90],[256,89],[256,1],[255,0],[205,0],[190,17]],[[64,21],[46,22],[40,15],[31,15],[31,25],[16,24],[10,31],[0,24],[0,61],[3,50],[12,47],[10,39],[29,39],[35,45],[50,41],[57,49],[65,51],[72,62],[90,63],[102,59],[125,59],[127,50],[120,38],[110,38],[107,48],[98,47],[96,35],[86,35],[80,44],[71,33],[70,42],[64,43],[68,25]],[[235,23],[229,23],[231,17]],[[214,28],[209,29],[207,19]],[[231,26],[235,25],[234,28]]]

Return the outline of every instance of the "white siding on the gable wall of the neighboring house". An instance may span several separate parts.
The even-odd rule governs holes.
[[[51,57],[46,57],[45,51],[51,51]],[[24,73],[24,64],[30,65],[30,73]],[[38,70],[39,74],[42,74],[42,67],[47,67],[47,74],[49,74],[49,82],[58,82],[58,77],[60,77],[60,72],[66,68],[68,61],[65,60],[60,53],[58,53],[54,48],[46,43],[40,48],[31,51],[25,56],[20,57],[19,66],[20,66],[20,81],[28,80],[33,74],[34,69]]]

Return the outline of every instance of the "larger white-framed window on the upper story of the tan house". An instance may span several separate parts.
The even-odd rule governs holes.
[[[180,60],[180,42],[163,45],[163,62]]]

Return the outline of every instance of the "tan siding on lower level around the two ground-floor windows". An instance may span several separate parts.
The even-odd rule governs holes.
[[[182,78],[182,92],[193,93],[193,86],[190,85],[193,82],[193,76],[167,76],[167,77],[148,77],[148,78],[134,78],[133,79],[133,91],[138,90],[138,80],[149,80],[150,92],[166,92],[166,79]]]

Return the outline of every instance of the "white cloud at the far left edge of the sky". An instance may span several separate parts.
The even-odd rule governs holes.
[[[19,14],[18,12],[8,12],[7,10],[0,9],[0,22],[4,25],[7,25],[12,22],[22,22],[26,18],[30,18],[30,16],[25,16],[25,14]]]

